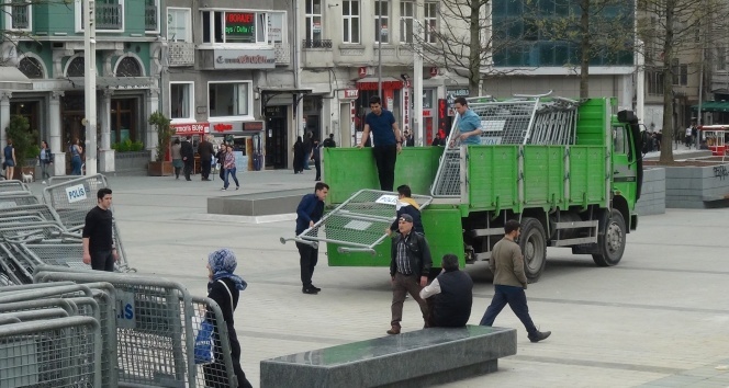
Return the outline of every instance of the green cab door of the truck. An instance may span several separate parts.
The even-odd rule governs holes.
[[[618,191],[629,202],[636,198],[637,187],[637,156],[635,148],[630,145],[630,133],[628,125],[613,127],[613,190]]]

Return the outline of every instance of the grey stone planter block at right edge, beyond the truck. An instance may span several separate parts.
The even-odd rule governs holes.
[[[664,169],[665,207],[729,207],[729,164]]]

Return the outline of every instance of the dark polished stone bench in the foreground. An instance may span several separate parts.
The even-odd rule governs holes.
[[[516,330],[431,328],[261,361],[260,386],[423,387],[495,372]]]

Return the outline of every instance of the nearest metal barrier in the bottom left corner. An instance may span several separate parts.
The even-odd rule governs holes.
[[[91,317],[0,324],[0,387],[101,387],[99,335]]]

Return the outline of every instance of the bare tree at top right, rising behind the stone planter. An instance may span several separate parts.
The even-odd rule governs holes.
[[[678,60],[688,52],[698,47],[699,66],[704,66],[704,50],[700,49],[702,23],[713,20],[726,20],[727,4],[725,0],[639,0],[638,34],[647,47],[658,47],[661,53],[655,62],[657,70],[662,75],[663,91],[663,138],[661,140],[661,162],[673,162],[671,141],[674,123],[674,77],[683,71]],[[697,42],[698,37],[698,42]],[[697,45],[697,43],[699,43]],[[700,80],[704,82],[704,80]]]

